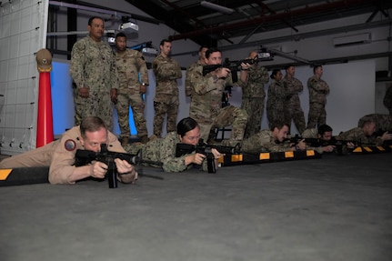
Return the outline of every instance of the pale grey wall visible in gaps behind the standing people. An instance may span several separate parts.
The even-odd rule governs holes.
[[[348,64],[340,65],[325,65],[323,78],[327,81],[330,87],[331,93],[327,96],[327,124],[331,125],[334,129],[334,133],[338,134],[340,131],[345,131],[357,125],[359,117],[367,115],[375,111],[375,75],[368,74],[368,71],[374,71],[374,61],[357,61]],[[62,73],[67,74],[67,67]],[[282,70],[284,73],[284,71]],[[342,72],[345,72],[342,74]],[[149,83],[146,92],[146,121],[149,135],[153,133],[153,119],[154,119],[154,96],[156,78],[152,70],[149,70]],[[301,106],[304,110],[306,119],[309,110],[309,95],[307,89],[307,79],[313,75],[313,70],[309,66],[298,66],[296,68],[296,77],[304,85],[304,91],[300,94]],[[337,77],[337,75],[339,75]],[[71,79],[64,80],[64,82],[70,82]],[[183,77],[177,80],[179,88],[180,107],[178,109],[177,120],[180,120],[189,115],[190,98],[185,95],[185,71],[183,71]],[[265,85],[266,93],[269,83]],[[57,85],[61,88],[61,85]],[[66,127],[72,127],[74,122],[73,115],[73,98],[72,93],[69,91],[67,86],[64,86],[64,93],[61,96],[62,107],[68,108],[68,114],[61,119],[62,123],[68,123]],[[241,105],[242,91],[240,87],[233,88],[233,95],[230,99],[230,104],[235,106]],[[115,129],[114,132],[119,134],[118,125],[115,117]],[[261,128],[267,128],[266,112],[263,116]],[[297,129],[292,126],[292,133],[296,134]],[[59,133],[61,134],[61,132]],[[164,128],[164,134],[166,129]]]

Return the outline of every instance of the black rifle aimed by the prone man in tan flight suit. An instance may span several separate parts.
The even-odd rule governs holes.
[[[76,150],[75,166],[85,166],[90,164],[92,161],[100,161],[105,163],[108,166],[106,177],[109,182],[109,187],[116,188],[117,187],[117,169],[115,163],[116,158],[119,158],[121,160],[126,160],[129,164],[132,165],[139,165],[139,164],[146,163],[155,166],[162,166],[161,162],[142,159],[141,151],[139,151],[137,155],[112,152],[107,150],[106,144],[101,144],[101,151],[99,152],[94,152],[85,149]],[[163,179],[163,177],[160,176],[148,176],[148,177]]]

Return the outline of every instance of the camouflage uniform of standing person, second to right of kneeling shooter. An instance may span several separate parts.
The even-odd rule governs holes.
[[[276,79],[273,79],[268,87],[268,97],[266,99],[266,117],[270,128],[276,121],[285,122],[285,99],[283,82],[276,82]]]

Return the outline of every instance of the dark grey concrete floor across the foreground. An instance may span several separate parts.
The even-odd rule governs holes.
[[[0,187],[0,258],[392,260],[392,154]]]

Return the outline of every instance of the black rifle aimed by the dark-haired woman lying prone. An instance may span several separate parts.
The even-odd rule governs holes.
[[[216,173],[215,157],[212,153],[212,149],[215,148],[221,154],[240,154],[241,146],[238,143],[236,146],[216,146],[207,145],[203,139],[199,140],[199,143],[194,146],[190,144],[177,143],[176,144],[176,157],[191,154],[194,151],[206,156],[208,173]]]

